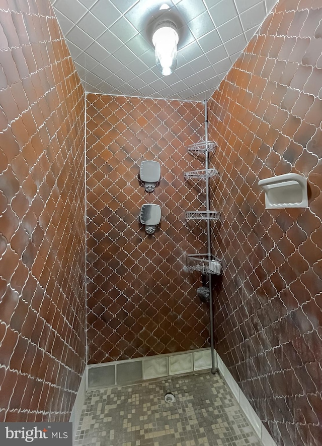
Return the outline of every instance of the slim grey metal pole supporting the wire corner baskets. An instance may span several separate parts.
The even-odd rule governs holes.
[[[205,142],[208,142],[208,109],[207,100],[205,102]],[[208,148],[208,147],[207,147]],[[209,152],[205,154],[205,168],[209,169]],[[206,210],[210,211],[210,199],[209,199],[209,178],[206,175]],[[210,219],[207,218],[207,254],[208,260],[211,260],[211,226]],[[212,284],[211,274],[208,274],[209,282],[209,331],[210,331],[210,349],[211,349],[211,373],[215,374],[217,371],[215,363],[215,346],[214,346],[214,328],[213,328],[213,298],[212,298]]]

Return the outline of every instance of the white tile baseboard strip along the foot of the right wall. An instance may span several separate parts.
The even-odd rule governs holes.
[[[250,402],[244,395],[244,392],[240,389],[237,382],[235,381],[232,374],[229,372],[229,370],[227,369],[223,360],[220,358],[220,356],[218,355],[217,352],[216,352],[216,356],[217,356],[218,370],[219,370],[221,376],[226,381],[227,386],[229,387],[232,394],[236,398],[241,411],[244,412],[246,418],[252,425],[254,431],[256,432],[256,434],[258,435],[260,440],[262,441],[263,446],[277,446],[277,444],[275,443],[275,441],[273,440],[273,438],[271,437],[271,435],[269,434],[269,432],[267,431],[267,429],[261,422],[257,413],[251,406]]]

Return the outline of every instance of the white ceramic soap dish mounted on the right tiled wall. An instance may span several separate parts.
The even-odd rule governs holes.
[[[265,192],[265,209],[307,208],[307,180],[298,173],[285,173],[261,179]]]

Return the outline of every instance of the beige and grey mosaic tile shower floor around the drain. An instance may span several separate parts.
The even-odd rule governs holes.
[[[164,396],[172,392],[174,403]],[[76,446],[260,446],[218,375],[172,376],[88,394]]]

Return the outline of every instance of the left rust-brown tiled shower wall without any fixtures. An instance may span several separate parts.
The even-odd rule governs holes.
[[[2,2],[0,36],[0,421],[68,421],[85,368],[85,94],[49,2]]]

